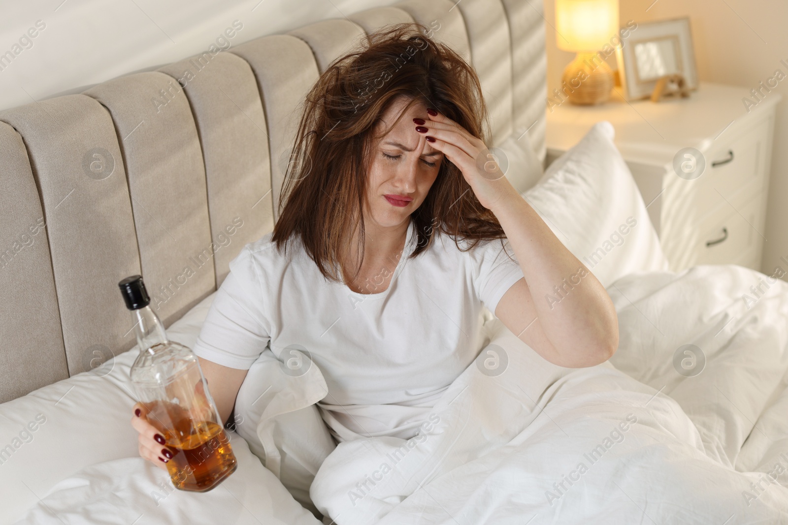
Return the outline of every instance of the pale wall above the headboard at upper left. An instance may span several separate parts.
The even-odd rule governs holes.
[[[0,109],[147,71],[202,53],[233,20],[243,29],[238,46],[325,18],[340,18],[393,0],[0,0],[0,55],[40,20],[42,31],[22,42],[0,68]],[[236,26],[237,27],[237,26]],[[219,43],[219,46],[226,46]]]

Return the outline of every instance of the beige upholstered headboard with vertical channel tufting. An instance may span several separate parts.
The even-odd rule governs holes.
[[[125,276],[165,326],[217,289],[273,228],[303,95],[362,31],[439,26],[481,77],[493,141],[529,130],[544,159],[541,9],[407,0],[0,113],[0,401],[134,346]]]

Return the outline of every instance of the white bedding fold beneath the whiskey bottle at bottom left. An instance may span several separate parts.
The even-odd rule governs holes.
[[[317,525],[318,520],[292,497],[230,433],[238,468],[204,493],[177,490],[169,474],[141,457],[91,465],[58,482],[18,525]]]

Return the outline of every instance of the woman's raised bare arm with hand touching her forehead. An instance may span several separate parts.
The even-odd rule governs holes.
[[[496,316],[553,364],[580,368],[608,360],[619,346],[619,320],[608,292],[491,162],[481,139],[442,113],[427,113],[422,132],[495,214],[525,275],[500,299]]]

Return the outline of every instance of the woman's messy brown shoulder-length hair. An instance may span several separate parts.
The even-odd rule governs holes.
[[[366,173],[373,146],[391,129],[374,135],[374,126],[395,99],[410,99],[397,121],[407,108],[422,102],[489,143],[488,114],[476,72],[431,34],[422,24],[408,23],[367,35],[363,46],[333,61],[307,94],[272,241],[286,251],[288,240],[299,235],[327,279],[340,281],[356,228],[361,257],[355,275],[361,268]],[[418,238],[410,257],[429,247],[436,230],[450,235],[460,250],[505,237],[496,216],[481,205],[447,158],[422,205],[411,213],[411,222]]]

